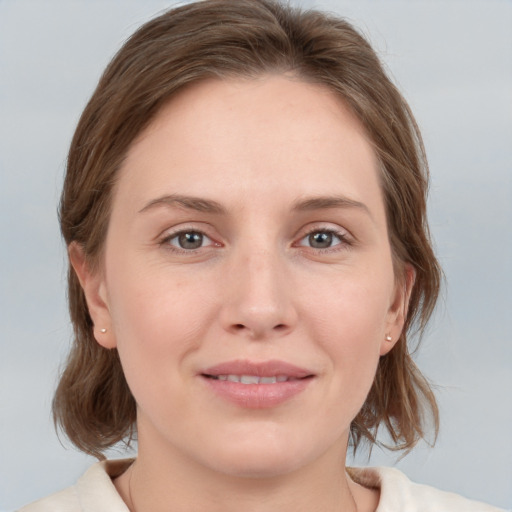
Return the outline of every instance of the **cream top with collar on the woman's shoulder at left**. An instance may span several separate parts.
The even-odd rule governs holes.
[[[123,473],[131,460],[98,462],[75,485],[47,496],[18,512],[129,512],[112,478]]]

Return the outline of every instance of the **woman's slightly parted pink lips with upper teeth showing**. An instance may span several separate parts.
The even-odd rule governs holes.
[[[207,368],[199,376],[221,398],[239,407],[262,409],[300,394],[315,375],[284,361],[236,360]]]

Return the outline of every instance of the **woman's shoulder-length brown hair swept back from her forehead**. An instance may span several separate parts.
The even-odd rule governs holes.
[[[394,449],[411,449],[438,429],[436,402],[407,345],[422,331],[439,293],[441,272],[426,221],[428,169],[409,107],[368,42],[346,21],[271,0],[205,0],[149,21],[105,70],[78,123],[69,151],[60,204],[67,244],[97,265],[109,222],[116,173],[134,138],[170,97],[211,77],[257,77],[291,72],[335,91],[364,125],[381,164],[390,243],[397,276],[416,270],[405,327],[382,357],[367,400],[351,425],[354,449],[376,443],[383,424]],[[117,351],[94,339],[84,293],[69,269],[74,343],[53,411],[71,441],[102,451],[135,434],[136,406]]]

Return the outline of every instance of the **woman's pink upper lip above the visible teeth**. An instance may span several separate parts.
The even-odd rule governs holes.
[[[205,368],[200,373],[201,375],[213,377],[218,375],[256,375],[258,377],[283,375],[294,379],[302,379],[313,375],[313,372],[285,361],[269,360],[254,362],[239,359]]]

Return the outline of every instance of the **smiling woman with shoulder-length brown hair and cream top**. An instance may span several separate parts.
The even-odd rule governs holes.
[[[70,149],[54,401],[80,449],[136,433],[138,457],[23,510],[496,510],[343,464],[379,426],[403,450],[437,429],[407,350],[439,290],[426,187],[346,22],[211,0],[139,29]]]

